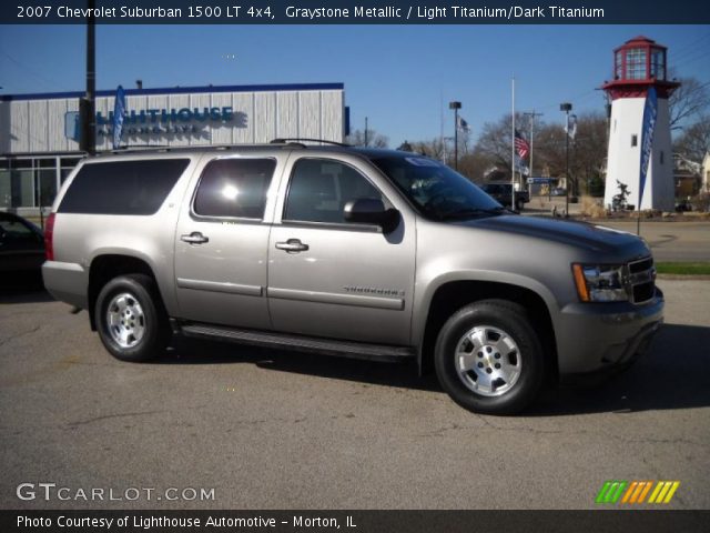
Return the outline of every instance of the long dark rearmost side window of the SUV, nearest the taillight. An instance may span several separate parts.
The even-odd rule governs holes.
[[[189,159],[155,159],[84,164],[58,211],[154,214],[189,163]]]

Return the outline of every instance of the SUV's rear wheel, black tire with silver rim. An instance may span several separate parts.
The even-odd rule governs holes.
[[[125,295],[120,302],[128,302],[133,312],[121,315],[121,324],[110,324],[109,305],[113,314],[118,313],[120,302],[115,299]],[[136,312],[139,310],[139,312]],[[122,313],[118,313],[122,314]],[[168,315],[152,278],[145,274],[126,274],[109,281],[99,293],[94,308],[97,329],[105,349],[122,361],[142,362],[161,355],[170,340]],[[133,324],[133,325],[131,325]],[[138,324],[138,329],[135,325]],[[141,331],[140,339],[138,331]],[[118,339],[121,332],[131,331],[123,343]]]

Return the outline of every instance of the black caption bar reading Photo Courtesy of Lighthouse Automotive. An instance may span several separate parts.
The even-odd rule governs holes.
[[[0,511],[0,531],[155,533],[706,532],[708,511]]]

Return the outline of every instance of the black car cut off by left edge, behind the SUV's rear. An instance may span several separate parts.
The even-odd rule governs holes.
[[[40,276],[44,262],[42,230],[17,214],[0,212],[0,275]]]

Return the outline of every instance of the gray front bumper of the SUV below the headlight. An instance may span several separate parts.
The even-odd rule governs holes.
[[[572,303],[556,326],[560,376],[621,370],[642,355],[663,322],[663,293],[643,305]]]

